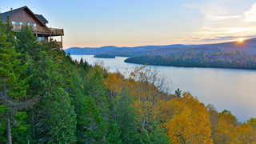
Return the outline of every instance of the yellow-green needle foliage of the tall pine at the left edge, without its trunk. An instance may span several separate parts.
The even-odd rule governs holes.
[[[10,34],[0,32],[0,90],[8,90],[10,98],[19,100],[26,95],[26,78],[22,74],[27,65],[21,62],[21,55],[10,43],[14,35],[8,36]]]

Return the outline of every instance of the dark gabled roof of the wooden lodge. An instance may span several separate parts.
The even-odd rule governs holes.
[[[42,16],[42,14],[34,14],[32,12],[32,10],[30,10],[27,6],[22,6],[18,9],[14,9],[14,10],[10,10],[10,11],[6,11],[4,13],[0,13],[0,18],[2,18],[3,21],[7,21],[7,19],[14,13],[21,11],[21,10],[28,10],[28,12],[32,15],[34,15],[34,18],[38,19],[39,22],[42,23],[43,26],[46,26],[46,23],[48,23],[48,21],[46,20],[46,18],[44,18]]]

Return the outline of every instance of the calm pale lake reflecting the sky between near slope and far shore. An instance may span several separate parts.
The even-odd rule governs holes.
[[[93,55],[72,55],[94,64],[101,62],[110,72],[128,74],[137,64],[125,63],[126,58],[94,58]],[[150,66],[170,83],[170,90],[189,91],[200,102],[213,104],[218,111],[230,110],[238,121],[256,118],[256,70],[186,68]]]

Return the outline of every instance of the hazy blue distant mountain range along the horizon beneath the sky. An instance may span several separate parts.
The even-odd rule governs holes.
[[[246,54],[256,54],[256,38],[247,39],[244,42],[225,42],[204,45],[167,45],[167,46],[134,46],[134,47],[118,47],[103,46],[98,48],[92,47],[71,47],[65,50],[69,54],[108,54],[114,56],[137,57],[145,55],[170,55],[181,54],[186,52],[231,52],[240,51]]]

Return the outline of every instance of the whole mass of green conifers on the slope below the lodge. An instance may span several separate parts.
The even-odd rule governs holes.
[[[1,84],[11,87],[10,96],[17,102],[39,99],[14,114],[14,143],[162,142],[153,130],[142,130],[126,91],[116,97],[109,93],[102,66],[72,61],[54,41],[37,42],[29,26],[15,39],[11,26],[1,25]],[[2,116],[8,111],[0,105]],[[6,142],[5,118],[0,118],[0,130],[0,140]]]

